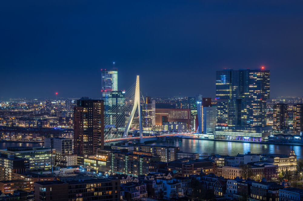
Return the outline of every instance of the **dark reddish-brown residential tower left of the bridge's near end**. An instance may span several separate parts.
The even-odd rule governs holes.
[[[103,100],[82,97],[74,107],[74,153],[94,155],[104,148]]]

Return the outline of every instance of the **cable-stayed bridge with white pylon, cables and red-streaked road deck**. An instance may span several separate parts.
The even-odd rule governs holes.
[[[155,123],[152,123],[152,109],[145,107],[145,99],[140,91],[139,75],[137,75],[136,82],[126,90],[123,99],[123,104],[117,104],[116,101],[111,106],[110,114],[104,116],[113,124],[111,126],[105,125],[105,143],[132,139],[140,139],[140,142],[143,142],[148,139],[155,139],[155,137],[191,134],[189,132],[165,134],[155,131],[155,125],[153,125]],[[141,104],[143,106],[142,110]],[[142,127],[142,111],[144,113],[144,127]],[[155,118],[155,115],[153,118]]]

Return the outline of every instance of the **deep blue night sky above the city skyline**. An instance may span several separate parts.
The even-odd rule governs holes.
[[[140,75],[150,96],[215,96],[215,71],[271,70],[271,97],[302,96],[302,1],[2,1],[0,97],[98,97]]]

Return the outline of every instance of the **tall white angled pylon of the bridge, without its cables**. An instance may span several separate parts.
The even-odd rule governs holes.
[[[137,75],[137,81],[136,81],[136,89],[135,89],[135,100],[134,105],[132,108],[131,115],[129,116],[127,125],[124,130],[123,137],[126,138],[128,136],[128,131],[131,127],[132,120],[134,119],[134,115],[136,112],[136,109],[138,108],[138,115],[139,115],[139,132],[140,132],[140,142],[142,142],[143,134],[142,134],[142,119],[141,119],[141,109],[140,109],[140,85],[139,85],[139,75]]]

